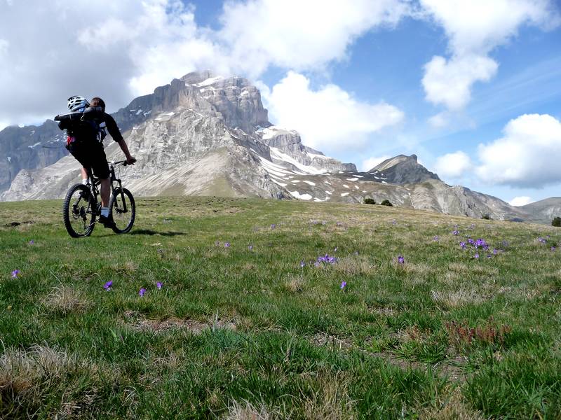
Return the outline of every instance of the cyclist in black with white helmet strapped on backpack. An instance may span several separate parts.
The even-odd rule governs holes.
[[[111,183],[109,180],[109,165],[103,150],[104,128],[107,127],[109,134],[121,147],[125,154],[128,165],[133,165],[136,159],[130,155],[126,141],[123,139],[119,127],[113,117],[105,113],[105,102],[95,97],[88,100],[81,96],[73,96],[68,99],[70,113],[56,116],[60,130],[67,130],[68,151],[82,165],[82,179],[88,179],[88,169],[100,179],[101,194],[101,216],[100,223],[105,228],[112,228],[114,221],[109,217],[109,195]]]

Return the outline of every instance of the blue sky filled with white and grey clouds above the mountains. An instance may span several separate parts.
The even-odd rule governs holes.
[[[415,153],[509,202],[561,195],[558,1],[29,1],[0,0],[0,127],[60,110],[29,95],[100,94],[116,110],[215,69],[250,78],[272,123],[359,169]]]

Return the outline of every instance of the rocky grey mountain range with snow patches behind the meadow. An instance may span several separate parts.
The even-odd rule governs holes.
[[[373,198],[441,213],[546,223],[546,210],[516,208],[465,187],[447,186],[419,164],[417,155],[398,155],[368,172],[358,172],[352,163],[305,146],[295,130],[272,125],[257,87],[237,76],[188,73],[133,99],[113,115],[138,158],[134,170],[123,175],[137,195],[285,197],[316,202]],[[36,132],[44,130],[45,141],[57,144],[63,135],[53,132],[53,125],[58,130],[47,121]],[[27,127],[27,132],[20,130],[29,132]],[[0,132],[0,153],[4,131]],[[121,153],[113,143],[107,144],[106,152],[109,159]],[[47,163],[43,158],[43,165],[4,177],[10,185],[4,192],[0,188],[0,200],[62,197],[77,181],[78,165],[69,156]],[[534,210],[535,215],[531,214]]]

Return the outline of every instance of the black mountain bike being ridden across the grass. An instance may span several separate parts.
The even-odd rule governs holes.
[[[135,199],[129,190],[123,188],[121,179],[115,176],[115,166],[126,166],[126,160],[109,163],[111,179],[111,198],[109,199],[109,218],[115,222],[115,233],[127,233],[135,223]],[[62,203],[62,218],[65,228],[73,238],[90,236],[95,228],[97,218],[101,215],[100,183],[101,180],[88,171],[88,183],[76,183],[66,193]],[[117,184],[117,185],[115,185]]]

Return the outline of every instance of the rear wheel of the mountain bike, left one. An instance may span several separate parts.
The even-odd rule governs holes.
[[[62,203],[62,219],[73,238],[87,237],[95,226],[95,198],[83,184],[74,184]]]

